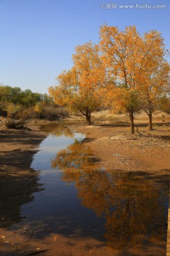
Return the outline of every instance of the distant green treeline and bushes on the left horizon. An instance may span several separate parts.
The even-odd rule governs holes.
[[[0,116],[7,119],[58,119],[68,112],[58,107],[46,93],[0,85]]]

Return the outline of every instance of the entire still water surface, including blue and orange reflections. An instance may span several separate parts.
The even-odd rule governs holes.
[[[108,245],[166,241],[168,185],[147,172],[98,170],[84,134],[64,124],[42,127],[31,167],[42,190],[21,208],[21,225],[92,237]]]

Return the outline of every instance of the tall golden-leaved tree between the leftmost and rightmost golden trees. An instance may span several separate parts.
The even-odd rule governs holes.
[[[135,26],[119,31],[117,27],[104,25],[100,30],[100,49],[106,65],[108,82],[106,90],[115,108],[128,112],[131,132],[135,132],[134,112],[137,110],[137,85],[140,82],[139,60],[142,58],[142,38]]]

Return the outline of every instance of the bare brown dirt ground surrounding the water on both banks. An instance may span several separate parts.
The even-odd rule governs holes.
[[[86,134],[84,143],[100,161],[98,168],[107,170],[147,171],[169,182],[170,171],[170,119],[155,117],[154,130],[148,131],[147,119],[138,118],[138,132],[130,134],[128,119],[94,120],[94,125],[67,119],[68,126]],[[79,123],[79,126],[77,125]],[[82,125],[81,125],[82,124]],[[11,230],[10,225],[24,216],[20,215],[23,204],[33,201],[32,194],[40,191],[36,171],[30,168],[38,145],[47,135],[40,131],[38,124],[31,122],[28,129],[8,130],[0,123],[0,253],[1,255],[57,255],[57,256],[123,256],[166,254],[166,246],[159,241],[153,242],[149,250],[128,252],[112,250],[94,238],[70,239],[55,232],[48,232],[43,238],[36,239],[40,230]],[[33,235],[32,235],[33,234]],[[32,253],[32,254],[31,254]],[[146,254],[147,253],[147,254]]]

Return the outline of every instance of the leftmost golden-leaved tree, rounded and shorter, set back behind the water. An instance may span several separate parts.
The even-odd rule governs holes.
[[[67,105],[79,111],[89,125],[91,112],[102,105],[100,85],[105,79],[105,68],[98,53],[98,46],[89,42],[75,48],[71,70],[62,71],[58,85],[50,87],[50,95],[57,105]]]

